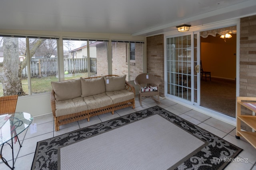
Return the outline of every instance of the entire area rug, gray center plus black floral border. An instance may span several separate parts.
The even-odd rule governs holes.
[[[90,165],[83,165],[85,169],[217,170],[229,163],[224,157],[234,158],[241,151],[208,131],[154,106],[38,142],[31,169],[56,170],[62,163],[64,168],[81,169],[80,165],[76,167],[75,161],[90,161]],[[118,159],[124,162],[120,164]]]

